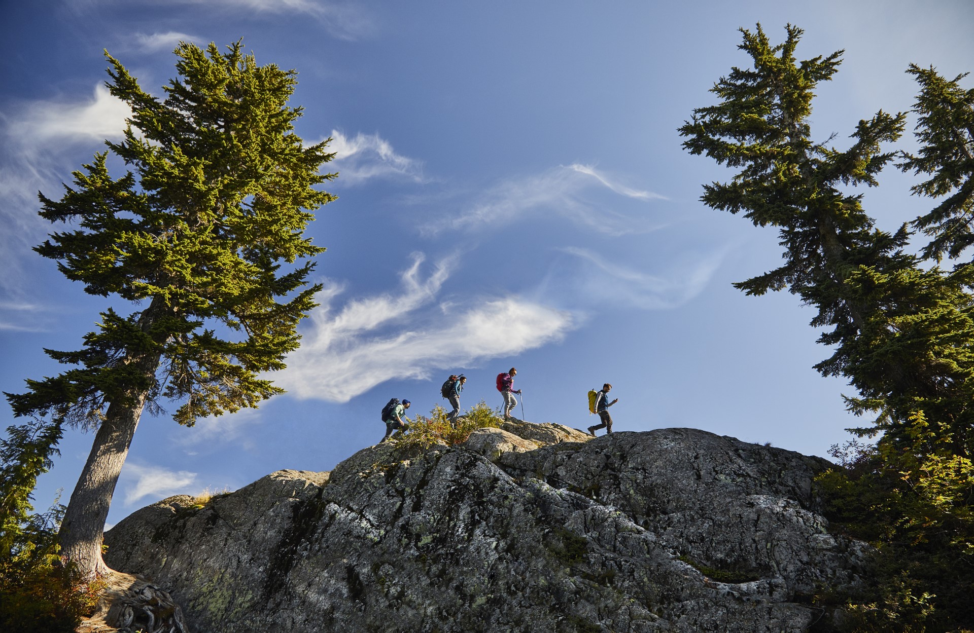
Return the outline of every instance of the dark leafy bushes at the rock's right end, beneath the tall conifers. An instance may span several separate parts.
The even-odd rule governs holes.
[[[876,546],[868,580],[844,597],[854,633],[954,633],[974,624],[974,465],[940,448],[950,434],[922,413],[908,424],[912,445],[835,445],[839,468],[815,479],[831,529]]]

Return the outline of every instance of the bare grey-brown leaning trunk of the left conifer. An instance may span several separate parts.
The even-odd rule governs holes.
[[[130,405],[109,405],[61,522],[61,554],[89,580],[110,571],[101,559],[105,519],[145,399],[143,393]]]

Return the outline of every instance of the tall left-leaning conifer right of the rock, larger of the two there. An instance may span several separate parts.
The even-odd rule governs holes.
[[[816,369],[850,380],[859,391],[849,399],[853,410],[879,411],[869,431],[894,440],[923,410],[950,424],[960,434],[955,450],[967,453],[974,274],[919,266],[903,250],[909,228],[877,229],[862,194],[844,189],[877,185],[876,175],[896,156],[880,146],[900,137],[905,115],[880,111],[860,121],[845,150],[828,145],[831,138],[814,142],[814,90],[835,74],[843,52],[799,61],[802,30],[795,26],[776,46],[760,25],[742,33],[739,48],[754,68],[733,68],[712,89],[720,102],[694,110],[680,128],[692,154],[740,167],[731,182],[704,186],[704,203],[777,228],[785,248],[783,265],[735,286],[750,295],[787,289],[818,308],[812,325],[830,328],[819,340],[835,345],[835,353]]]

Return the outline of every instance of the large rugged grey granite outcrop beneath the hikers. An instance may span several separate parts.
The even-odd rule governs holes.
[[[815,513],[829,466],[692,429],[509,423],[171,497],[109,531],[106,561],[197,633],[799,633],[866,553]]]

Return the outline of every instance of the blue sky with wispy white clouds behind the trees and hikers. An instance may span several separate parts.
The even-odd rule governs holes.
[[[244,38],[258,63],[299,72],[297,131],[331,136],[339,199],[309,229],[321,305],[259,410],[179,427],[144,415],[109,522],[170,494],[235,489],[283,468],[324,471],[382,437],[391,397],[413,411],[500,404],[516,366],[527,419],[593,424],[585,392],[609,381],[618,431],[695,427],[825,455],[858,420],[812,311],[731,288],[777,265],[771,230],[712,211],[700,186],[728,172],[676,128],[732,64],[739,26],[803,58],[845,49],[812,116],[843,146],[880,108],[907,110],[910,62],[974,70],[974,4],[915,2],[371,2],[121,0],[0,3],[0,388],[55,373],[42,348],[76,349],[115,299],[86,295],[31,246],[72,169],[117,138],[125,106],[102,88],[102,49],[143,88],[173,76],[179,40]],[[970,81],[967,81],[967,86]],[[913,147],[912,137],[898,146]],[[116,171],[116,173],[119,173]],[[892,170],[866,192],[893,229],[929,201]],[[174,407],[173,407],[174,408]],[[518,415],[521,409],[518,408]],[[4,427],[13,422],[0,409]],[[37,505],[70,494],[92,437],[69,431]]]

